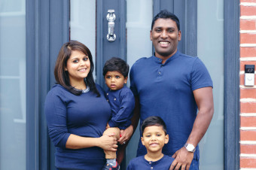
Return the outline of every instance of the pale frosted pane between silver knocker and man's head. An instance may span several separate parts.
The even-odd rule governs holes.
[[[127,1],[127,63],[132,67],[137,59],[143,56],[152,56],[152,42],[150,40],[151,22],[153,19],[153,1]],[[130,80],[127,83],[130,87]],[[139,143],[139,128],[126,148],[126,165],[130,159],[136,157]],[[127,151],[129,150],[129,151]]]

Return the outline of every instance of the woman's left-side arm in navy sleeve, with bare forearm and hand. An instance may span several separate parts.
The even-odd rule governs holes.
[[[56,147],[81,149],[85,147],[101,147],[105,150],[115,151],[117,148],[117,138],[112,134],[103,135],[99,138],[81,137],[70,134],[67,129],[66,102],[64,95],[59,96],[50,92],[45,101],[45,115],[48,132],[53,144]]]

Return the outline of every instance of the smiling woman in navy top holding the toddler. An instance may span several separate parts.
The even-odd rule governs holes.
[[[104,150],[117,150],[114,134],[102,135],[111,117],[104,92],[93,80],[90,50],[78,41],[63,44],[56,60],[56,85],[47,94],[48,132],[57,169],[102,169]]]

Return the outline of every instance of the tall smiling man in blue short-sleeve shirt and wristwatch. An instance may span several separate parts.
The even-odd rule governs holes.
[[[174,14],[160,11],[152,21],[150,38],[154,56],[139,59],[130,71],[130,89],[136,97],[136,108],[133,126],[124,133],[136,129],[139,117],[142,123],[147,117],[159,116],[166,122],[169,134],[163,153],[175,158],[170,169],[198,169],[197,145],[209,127],[214,110],[212,79],[198,57],[178,52],[181,31]],[[145,153],[140,141],[137,156]]]

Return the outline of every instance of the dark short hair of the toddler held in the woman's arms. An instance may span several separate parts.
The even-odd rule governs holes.
[[[103,67],[104,77],[108,71],[118,71],[120,72],[120,74],[123,75],[123,77],[127,77],[129,73],[129,65],[123,59],[112,57],[105,62],[105,65]]]

